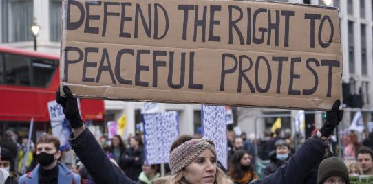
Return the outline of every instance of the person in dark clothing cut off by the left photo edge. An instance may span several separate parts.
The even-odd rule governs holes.
[[[6,148],[0,148],[0,183],[16,184],[18,175],[11,168],[13,164],[12,154]]]

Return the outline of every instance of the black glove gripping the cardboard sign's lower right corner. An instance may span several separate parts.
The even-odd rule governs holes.
[[[336,100],[332,106],[332,110],[326,111],[326,118],[320,129],[320,133],[324,137],[329,137],[333,133],[334,128],[341,122],[343,110],[339,110],[340,105],[341,101]]]

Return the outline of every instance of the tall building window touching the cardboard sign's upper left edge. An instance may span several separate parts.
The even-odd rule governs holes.
[[[50,41],[61,40],[61,0],[50,0]]]

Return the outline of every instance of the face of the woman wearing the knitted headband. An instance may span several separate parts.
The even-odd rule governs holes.
[[[206,149],[182,171],[188,183],[212,184],[216,175],[216,157]]]

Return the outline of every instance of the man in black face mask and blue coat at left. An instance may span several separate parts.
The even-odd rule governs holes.
[[[61,157],[60,141],[53,135],[41,135],[36,141],[36,160],[39,165],[31,172],[23,174],[19,184],[80,184],[81,177],[70,172],[57,160]]]

